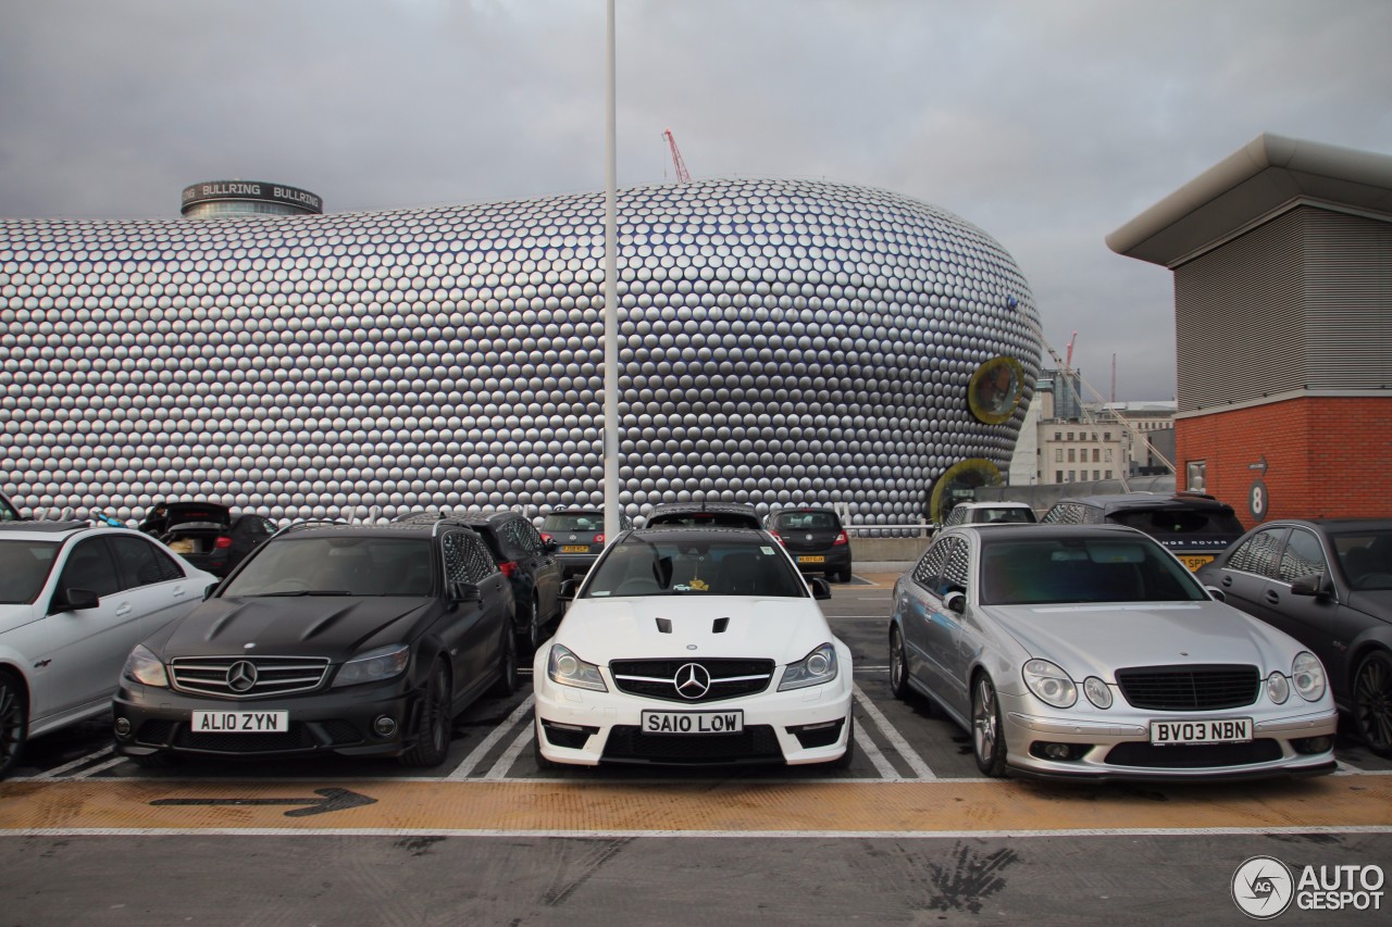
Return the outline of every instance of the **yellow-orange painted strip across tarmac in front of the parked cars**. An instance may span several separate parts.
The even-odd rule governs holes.
[[[372,805],[287,817],[331,785]],[[262,805],[152,805],[170,800]],[[0,834],[50,830],[1048,832],[1392,827],[1392,777],[1186,786],[1030,782],[0,782]]]

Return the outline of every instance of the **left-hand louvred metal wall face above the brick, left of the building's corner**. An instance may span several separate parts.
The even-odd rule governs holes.
[[[1304,387],[1307,212],[1285,213],[1175,269],[1179,412]]]

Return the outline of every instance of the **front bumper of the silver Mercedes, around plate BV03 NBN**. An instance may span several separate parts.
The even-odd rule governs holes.
[[[1040,711],[1033,697],[1001,695],[1006,766],[1034,778],[1090,781],[1257,779],[1320,775],[1335,770],[1339,715],[1311,703],[1246,706],[1192,714],[1128,708],[1116,718],[1065,717]],[[1251,718],[1249,743],[1165,745],[1150,740],[1151,721]],[[1321,740],[1321,738],[1324,740]],[[1048,759],[1045,745],[1073,754]]]

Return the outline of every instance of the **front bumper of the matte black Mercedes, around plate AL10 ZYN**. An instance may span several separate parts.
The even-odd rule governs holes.
[[[285,757],[340,753],[397,756],[412,746],[422,696],[405,678],[342,689],[269,699],[212,699],[121,681],[111,704],[113,724],[124,756],[180,753],[220,757]],[[210,734],[191,729],[193,711],[288,711],[285,734]],[[380,718],[391,718],[390,734],[379,734]],[[118,728],[117,728],[118,729]]]

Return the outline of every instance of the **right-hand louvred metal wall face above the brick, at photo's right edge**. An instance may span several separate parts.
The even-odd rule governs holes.
[[[1306,212],[1306,383],[1318,390],[1392,384],[1392,223]]]

